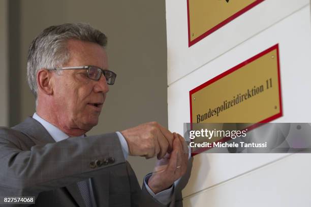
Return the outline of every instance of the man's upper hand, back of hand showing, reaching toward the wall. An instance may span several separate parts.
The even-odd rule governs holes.
[[[157,122],[141,124],[121,131],[129,146],[129,155],[162,159],[172,151],[173,133]]]

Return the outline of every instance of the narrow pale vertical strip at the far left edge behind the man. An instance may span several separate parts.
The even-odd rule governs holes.
[[[8,126],[8,2],[0,1],[0,126]]]

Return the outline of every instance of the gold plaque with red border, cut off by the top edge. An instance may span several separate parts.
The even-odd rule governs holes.
[[[187,0],[189,47],[263,1]]]

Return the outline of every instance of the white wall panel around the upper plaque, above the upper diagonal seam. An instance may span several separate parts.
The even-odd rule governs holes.
[[[168,85],[308,4],[308,0],[266,0],[189,48],[186,1],[167,0]]]

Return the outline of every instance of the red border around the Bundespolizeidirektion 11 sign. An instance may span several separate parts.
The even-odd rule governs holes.
[[[262,57],[263,55],[265,55],[265,54],[267,54],[267,53],[269,53],[269,52],[271,52],[272,50],[275,50],[275,49],[276,49],[276,54],[277,54],[277,78],[278,78],[278,92],[279,92],[279,93],[278,93],[278,98],[279,98],[279,113],[278,113],[278,114],[275,114],[275,115],[272,115],[271,117],[268,117],[268,118],[266,118],[266,119],[264,119],[264,120],[262,120],[262,121],[260,121],[260,122],[258,122],[258,123],[256,123],[256,124],[253,124],[252,126],[247,127],[247,129],[248,129],[248,131],[249,131],[249,130],[252,130],[252,129],[254,129],[254,128],[260,126],[260,125],[262,125],[263,123],[268,123],[268,122],[270,122],[270,121],[272,121],[272,120],[274,120],[274,119],[277,119],[277,118],[279,118],[279,117],[282,117],[282,116],[283,116],[283,109],[282,109],[282,95],[281,95],[281,94],[282,94],[282,93],[281,93],[281,75],[280,75],[280,67],[279,67],[278,44],[276,44],[276,45],[274,45],[274,46],[272,46],[272,47],[266,49],[265,51],[263,51],[263,52],[261,52],[261,53],[255,55],[254,57],[251,57],[250,59],[245,60],[244,62],[242,62],[242,63],[240,63],[240,64],[238,64],[238,65],[232,67],[232,68],[229,69],[228,71],[225,71],[224,73],[222,73],[222,74],[220,74],[220,75],[218,75],[218,76],[216,76],[216,77],[210,79],[209,81],[207,81],[207,82],[205,82],[205,83],[199,85],[198,87],[192,89],[191,91],[189,91],[189,100],[190,100],[190,123],[192,123],[192,101],[191,101],[191,100],[192,100],[192,97],[191,97],[191,96],[192,96],[193,93],[195,93],[195,92],[197,92],[197,91],[199,91],[199,90],[205,88],[206,86],[208,86],[208,85],[214,83],[215,81],[218,81],[218,80],[220,80],[221,78],[223,78],[223,77],[225,77],[225,76],[227,76],[227,75],[229,75],[229,74],[231,74],[231,73],[237,71],[239,68],[243,67],[244,65],[247,65],[247,64],[253,62],[254,60],[257,60],[258,58]],[[191,129],[192,129],[192,126],[191,126]],[[217,143],[218,143],[218,142],[227,142],[227,141],[230,140],[230,139],[231,139],[230,137],[225,137],[225,138],[223,138],[222,140],[217,141]],[[197,150],[197,151],[195,151],[195,152],[192,152],[191,154],[192,154],[192,156],[194,156],[194,155],[199,154],[199,153],[201,153],[201,152],[205,152],[206,150],[209,150],[209,149],[211,149],[211,148],[201,148],[200,150]]]

